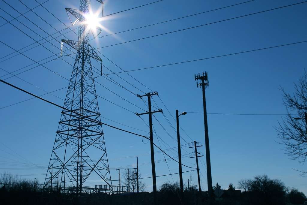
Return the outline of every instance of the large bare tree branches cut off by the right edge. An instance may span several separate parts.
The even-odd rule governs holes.
[[[290,95],[283,92],[283,102],[286,105],[288,115],[278,122],[275,127],[280,144],[285,145],[285,151],[291,159],[304,163],[307,158],[307,73],[300,78],[299,83],[294,83],[294,93]],[[297,116],[290,114],[295,113]],[[302,171],[302,175],[307,172]]]

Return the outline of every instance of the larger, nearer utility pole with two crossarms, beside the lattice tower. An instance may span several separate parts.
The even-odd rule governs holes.
[[[156,205],[157,204],[157,182],[156,182],[156,168],[154,164],[152,114],[156,112],[163,112],[163,111],[162,109],[158,109],[157,111],[151,110],[151,96],[152,95],[159,96],[157,92],[147,93],[145,95],[138,95],[138,97],[140,98],[145,97],[145,96],[148,98],[148,112],[141,113],[141,114],[135,113],[135,114],[137,116],[145,115],[145,114],[149,115],[150,155],[151,155],[151,169],[152,169],[152,174],[153,174],[153,203],[154,205]]]

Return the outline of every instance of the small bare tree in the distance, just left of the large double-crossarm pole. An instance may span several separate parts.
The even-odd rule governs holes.
[[[137,180],[137,170],[136,169],[129,169],[129,183],[128,183],[128,170],[126,170],[125,172],[125,177],[127,180],[124,181],[124,184],[128,190],[128,187],[130,187],[130,192],[142,192],[146,190],[146,185],[144,182],[142,182],[140,180],[141,178],[141,174],[140,171],[138,173],[138,178],[139,180]],[[138,182],[138,184],[137,184]]]

